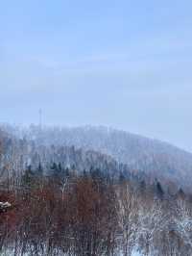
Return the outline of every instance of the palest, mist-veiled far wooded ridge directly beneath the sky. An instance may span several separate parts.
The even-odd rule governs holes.
[[[192,154],[165,142],[147,139],[106,127],[59,128],[32,125],[30,128],[4,127],[11,134],[36,146],[75,146],[112,157],[129,169],[144,172],[172,190],[191,191]]]

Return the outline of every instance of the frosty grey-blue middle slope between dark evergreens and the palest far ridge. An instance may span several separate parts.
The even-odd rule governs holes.
[[[67,168],[83,173],[94,166],[114,179],[123,173],[126,178],[150,182],[144,172],[132,171],[129,166],[100,152],[75,146],[39,145],[36,141],[14,138],[0,131],[0,181],[21,176],[29,166],[35,171],[40,167],[44,176],[62,174],[62,170]]]

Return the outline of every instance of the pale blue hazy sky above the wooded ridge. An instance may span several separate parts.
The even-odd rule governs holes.
[[[191,0],[0,1],[0,121],[108,125],[192,151]]]

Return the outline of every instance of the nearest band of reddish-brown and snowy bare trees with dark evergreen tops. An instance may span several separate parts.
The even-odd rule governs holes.
[[[78,172],[39,164],[2,184],[0,250],[8,255],[192,255],[192,199],[159,182],[113,179],[98,168]]]

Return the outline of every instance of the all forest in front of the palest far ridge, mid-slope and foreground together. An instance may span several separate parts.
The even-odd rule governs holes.
[[[94,150],[0,141],[5,255],[192,255],[189,192]]]

